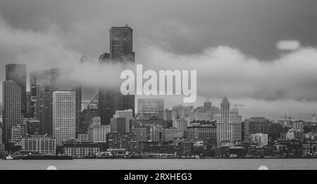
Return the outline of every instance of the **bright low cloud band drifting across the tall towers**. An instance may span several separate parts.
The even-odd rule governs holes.
[[[65,74],[65,79],[92,88],[111,87],[120,83],[122,70],[134,67],[101,65],[95,59],[80,64],[83,54],[65,46],[53,31],[15,29],[1,19],[0,25],[1,81],[5,77],[4,65],[25,63],[29,73],[49,68],[70,68],[72,72]],[[182,32],[192,34],[187,28]],[[240,103],[244,103],[243,99],[246,103],[251,100],[253,105],[257,104],[254,101],[267,104],[287,100],[297,101],[299,105],[310,102],[313,103],[311,107],[315,107],[317,49],[300,46],[299,41],[280,41],[277,48],[289,52],[275,60],[259,60],[228,46],[206,48],[201,53],[186,55],[173,53],[161,46],[146,45],[139,49],[142,53],[137,54],[136,63],[143,64],[144,70],[197,70],[197,95],[200,100],[221,99],[226,95],[230,99],[240,99]],[[280,113],[285,113],[285,110]]]

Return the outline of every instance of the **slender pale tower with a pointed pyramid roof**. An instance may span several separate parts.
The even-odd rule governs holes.
[[[230,143],[233,137],[233,124],[230,122],[230,103],[223,98],[221,106],[220,142]]]

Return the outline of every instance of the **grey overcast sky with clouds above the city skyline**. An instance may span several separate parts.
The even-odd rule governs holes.
[[[246,118],[310,118],[298,113],[317,112],[316,20],[316,0],[1,0],[0,80],[7,63],[98,58],[128,24],[137,63],[197,68],[194,105],[227,95]]]

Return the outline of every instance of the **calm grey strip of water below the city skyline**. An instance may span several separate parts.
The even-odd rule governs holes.
[[[270,170],[317,169],[317,159],[74,159],[0,160],[0,170]]]

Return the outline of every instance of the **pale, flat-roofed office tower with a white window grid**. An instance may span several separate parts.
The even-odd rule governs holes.
[[[76,128],[76,92],[53,92],[53,136],[56,145],[75,139]]]

